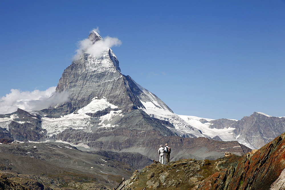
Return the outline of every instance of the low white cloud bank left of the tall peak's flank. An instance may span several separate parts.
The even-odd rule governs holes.
[[[68,92],[55,93],[55,86],[47,90],[21,91],[11,89],[11,93],[0,98],[0,114],[12,113],[17,108],[22,110],[42,110],[52,104],[68,101]]]

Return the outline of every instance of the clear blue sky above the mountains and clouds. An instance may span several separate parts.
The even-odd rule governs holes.
[[[174,113],[285,116],[285,1],[0,1],[0,98],[56,86],[99,27]]]

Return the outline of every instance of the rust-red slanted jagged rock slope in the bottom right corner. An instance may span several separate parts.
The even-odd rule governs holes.
[[[201,182],[199,188],[270,189],[285,168],[284,145],[283,133],[254,154],[250,152],[239,158],[236,166],[232,165],[209,176]],[[219,167],[219,163],[217,166]]]

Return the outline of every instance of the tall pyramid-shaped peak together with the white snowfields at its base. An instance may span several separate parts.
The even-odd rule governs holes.
[[[88,39],[92,43],[103,40],[93,31]],[[157,96],[137,84],[130,76],[121,73],[119,61],[111,49],[105,50],[100,57],[82,52],[62,74],[56,92],[68,91],[70,101],[54,105],[49,109],[54,114],[44,113],[42,128],[52,137],[66,129],[95,132],[107,127],[119,127],[121,119],[132,110],[141,110],[150,117],[161,120],[155,111],[166,113],[169,125],[160,123],[163,135],[183,137],[208,137],[188,125]],[[65,115],[55,117],[59,112]],[[98,115],[96,122],[92,117]],[[164,120],[164,119],[162,119]],[[157,121],[152,121],[157,125]],[[164,127],[166,126],[166,127]]]

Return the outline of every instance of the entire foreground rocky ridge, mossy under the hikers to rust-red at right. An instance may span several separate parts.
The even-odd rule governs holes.
[[[134,172],[126,189],[284,189],[285,133],[244,156],[178,160]]]

